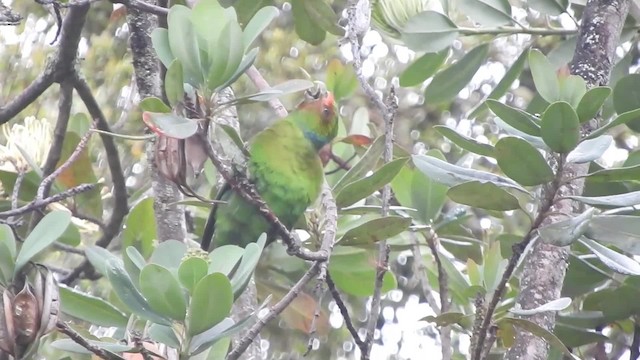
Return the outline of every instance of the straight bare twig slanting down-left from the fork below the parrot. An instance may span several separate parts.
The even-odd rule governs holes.
[[[249,347],[253,339],[258,336],[262,328],[278,314],[291,304],[291,302],[300,294],[302,288],[311,281],[320,272],[320,261],[316,261],[309,270],[298,280],[298,282],[289,290],[289,292],[278,301],[275,305],[269,307],[267,314],[260,318],[247,332],[247,335],[240,339],[236,346],[227,355],[227,360],[236,360]]]

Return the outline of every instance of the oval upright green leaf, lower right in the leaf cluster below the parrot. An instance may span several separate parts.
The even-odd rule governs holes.
[[[193,290],[187,319],[188,334],[200,334],[224,320],[231,312],[232,305],[233,292],[229,279],[221,273],[205,276]]]

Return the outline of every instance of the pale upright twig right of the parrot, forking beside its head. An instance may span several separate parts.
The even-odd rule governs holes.
[[[398,107],[395,89],[393,85],[389,89],[389,95],[386,100],[383,101],[373,86],[369,84],[367,79],[364,77],[362,73],[362,56],[360,54],[360,40],[358,39],[358,31],[357,29],[361,27],[361,24],[357,24],[357,18],[359,18],[359,6],[358,0],[351,0],[349,2],[348,7],[348,20],[349,20],[349,31],[348,39],[351,44],[351,53],[353,55],[353,68],[356,73],[356,77],[360,82],[360,87],[364,90],[365,94],[369,98],[369,100],[375,105],[378,112],[382,115],[384,119],[384,138],[385,138],[385,149],[384,149],[384,163],[388,163],[391,161],[393,157],[393,121],[395,117],[395,113]],[[382,189],[382,216],[387,216],[389,212],[389,200],[391,198],[391,186],[389,184],[385,185]],[[362,359],[369,359],[371,346],[373,345],[373,334],[376,328],[376,324],[378,322],[378,315],[380,313],[380,303],[382,301],[382,280],[384,279],[384,274],[387,272],[388,264],[389,264],[389,253],[390,248],[387,246],[387,242],[385,240],[380,241],[378,245],[378,263],[377,263],[377,271],[376,271],[376,279],[373,289],[373,297],[371,299],[371,312],[369,314],[369,321],[367,323],[367,333],[365,336],[365,349],[362,353]]]

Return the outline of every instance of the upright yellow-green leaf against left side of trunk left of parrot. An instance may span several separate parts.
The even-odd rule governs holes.
[[[122,246],[135,247],[145,258],[151,255],[153,242],[158,238],[153,200],[148,197],[138,202],[127,215],[122,231]]]

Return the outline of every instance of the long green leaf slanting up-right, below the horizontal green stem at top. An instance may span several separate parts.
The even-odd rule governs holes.
[[[489,52],[489,44],[471,49],[455,64],[437,73],[424,91],[429,104],[448,102],[469,84],[484,63]]]

